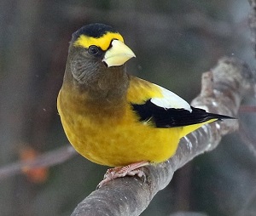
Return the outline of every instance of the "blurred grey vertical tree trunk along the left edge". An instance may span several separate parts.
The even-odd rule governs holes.
[[[14,160],[20,142],[26,137],[26,115],[30,105],[30,85],[33,70],[33,38],[38,23],[41,1],[1,1],[0,22],[1,58],[0,72],[0,162]],[[40,37],[40,36],[38,36]],[[8,48],[8,49],[7,49]],[[31,215],[29,212],[32,188],[23,179],[11,179],[0,187],[2,215]]]

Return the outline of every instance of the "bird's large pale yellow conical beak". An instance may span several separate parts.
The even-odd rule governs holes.
[[[119,40],[113,40],[111,45],[112,47],[108,49],[102,60],[108,67],[124,65],[127,60],[136,57],[131,48],[128,48],[125,43]]]

